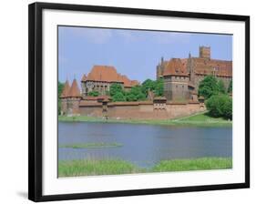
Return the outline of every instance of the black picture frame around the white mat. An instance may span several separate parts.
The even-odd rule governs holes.
[[[231,20],[245,23],[245,182],[189,186],[161,189],[132,189],[104,192],[90,192],[63,195],[42,195],[42,12],[44,9],[68,11],[90,11],[128,15],[174,16],[197,19]],[[167,10],[149,10],[125,7],[108,7],[94,5],[67,5],[34,3],[29,5],[28,12],[28,199],[34,201],[64,200],[64,199],[92,199],[105,197],[134,196],[147,194],[175,193],[217,189],[250,188],[250,16],[247,15],[219,15],[191,12],[177,12]]]

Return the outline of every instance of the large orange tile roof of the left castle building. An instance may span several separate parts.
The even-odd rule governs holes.
[[[123,83],[124,87],[138,85],[138,81],[130,80],[128,76],[118,74],[114,66],[93,66],[88,76],[84,76],[82,81],[119,82]]]

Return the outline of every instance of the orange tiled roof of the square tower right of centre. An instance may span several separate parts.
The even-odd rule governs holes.
[[[163,76],[188,76],[187,59],[170,59],[164,68]]]

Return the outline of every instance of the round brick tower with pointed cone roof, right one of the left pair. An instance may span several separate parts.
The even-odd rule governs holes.
[[[80,90],[77,86],[77,80],[74,79],[67,96],[67,115],[68,116],[77,116],[80,114],[80,111],[79,111],[80,100],[81,100]]]

